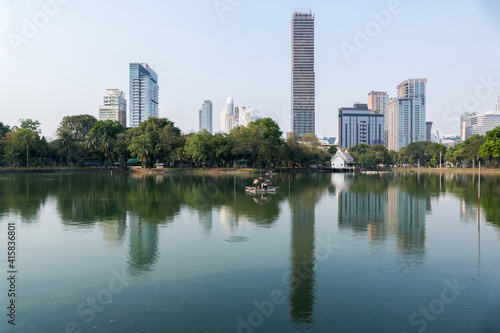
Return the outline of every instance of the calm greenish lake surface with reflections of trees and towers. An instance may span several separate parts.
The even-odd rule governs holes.
[[[500,332],[500,177],[0,175],[0,332]]]

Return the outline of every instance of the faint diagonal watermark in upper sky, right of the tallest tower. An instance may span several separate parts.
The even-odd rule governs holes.
[[[383,29],[391,24],[393,17],[401,14],[402,11],[403,5],[400,0],[390,0],[387,3],[387,9],[370,13],[373,20],[368,21],[363,29],[355,27],[352,43],[340,43],[340,49],[347,63],[352,61],[354,55],[360,54],[363,49],[367,48]]]

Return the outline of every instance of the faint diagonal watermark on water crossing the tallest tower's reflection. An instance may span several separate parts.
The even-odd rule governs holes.
[[[304,273],[312,274],[314,262],[325,261],[333,253],[335,249],[340,248],[339,244],[334,244],[332,242],[331,236],[328,236],[326,240],[318,239],[319,248],[315,251],[314,257],[307,257],[301,263],[301,268]],[[314,259],[315,258],[315,259]],[[297,274],[297,276],[291,279],[290,272],[286,271],[281,275],[281,281],[285,284],[291,284],[294,287],[300,286],[300,284],[308,278],[305,274]],[[286,292],[281,289],[274,289],[269,293],[269,298],[261,302],[254,300],[252,304],[255,306],[255,310],[250,312],[245,318],[239,316],[236,318],[237,328],[236,333],[253,333],[255,329],[259,328],[264,324],[266,318],[270,318],[276,307],[286,302]]]

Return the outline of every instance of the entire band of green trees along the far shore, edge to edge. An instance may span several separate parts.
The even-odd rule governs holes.
[[[165,118],[149,118],[135,128],[118,121],[97,120],[91,115],[66,116],[47,141],[40,136],[40,122],[20,119],[18,126],[0,122],[0,165],[2,166],[125,166],[131,158],[142,167],[158,163],[174,167],[308,167],[325,165],[337,148],[320,147],[314,134],[291,133],[285,140],[271,118],[236,127],[228,135],[206,130],[183,134]],[[500,126],[474,135],[452,148],[435,142],[414,142],[399,152],[383,145],[359,144],[348,149],[359,166],[417,165],[435,167],[500,164]]]

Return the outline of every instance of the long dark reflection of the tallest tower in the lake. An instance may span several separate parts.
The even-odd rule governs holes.
[[[291,184],[290,316],[296,327],[311,328],[316,289],[314,209],[331,183],[329,175],[298,174]]]

